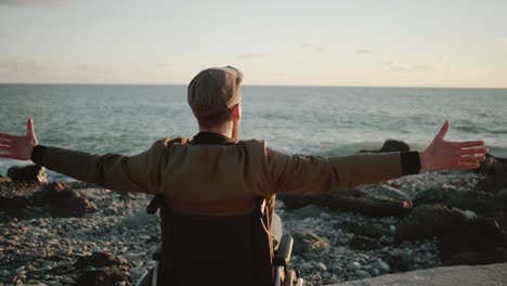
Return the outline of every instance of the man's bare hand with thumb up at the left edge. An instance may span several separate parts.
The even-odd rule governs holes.
[[[0,158],[29,160],[31,151],[38,144],[39,142],[34,131],[34,120],[28,118],[26,121],[26,135],[16,136],[0,133]]]

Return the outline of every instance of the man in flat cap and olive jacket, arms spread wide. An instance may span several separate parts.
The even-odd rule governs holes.
[[[192,140],[164,139],[134,156],[93,155],[39,145],[28,119],[26,135],[0,133],[0,157],[31,159],[106,188],[160,194],[177,212],[235,216],[251,211],[258,196],[272,209],[277,193],[347,191],[428,169],[473,169],[487,152],[482,141],[445,141],[445,121],[422,152],[327,158],[280,153],[263,141],[239,141],[242,80],[227,66],[191,81],[187,100],[199,126]]]

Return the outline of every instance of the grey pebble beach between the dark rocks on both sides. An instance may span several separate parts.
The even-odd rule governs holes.
[[[387,184],[412,199],[435,186],[472,188],[484,178],[466,171],[426,172]],[[154,265],[151,257],[159,244],[160,231],[158,217],[145,212],[151,196],[80,182],[67,184],[93,204],[94,210],[79,218],[54,218],[48,213],[48,206],[0,212],[0,285],[79,285],[83,273],[104,268],[125,275],[118,285],[133,285]],[[378,190],[385,185],[359,190],[381,197],[386,194]],[[43,187],[38,183],[9,183],[2,184],[1,192],[2,196],[12,197]],[[276,212],[284,221],[284,232],[296,239],[291,265],[308,285],[442,264],[435,239],[394,242],[403,218],[368,217],[314,205],[292,210],[283,202],[277,202]],[[96,252],[114,257],[113,262],[106,266],[79,266],[78,260]]]

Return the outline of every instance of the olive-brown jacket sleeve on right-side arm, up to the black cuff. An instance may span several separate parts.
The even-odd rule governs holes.
[[[287,155],[266,148],[268,180],[275,193],[327,193],[352,190],[402,176],[400,153],[344,157]]]

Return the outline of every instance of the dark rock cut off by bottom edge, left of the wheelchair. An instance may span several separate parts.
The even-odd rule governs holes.
[[[125,282],[129,284],[127,275],[115,269],[92,270],[88,271],[77,281],[78,286],[117,286]]]

